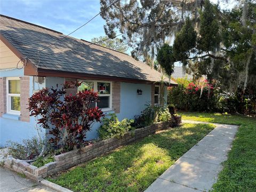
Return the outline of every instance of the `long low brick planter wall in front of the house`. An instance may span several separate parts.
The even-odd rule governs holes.
[[[20,161],[19,159],[13,159],[11,157],[5,160],[4,167],[19,173],[23,173],[30,179],[39,180],[59,171],[67,170],[70,167],[80,163],[87,162],[120,146],[146,137],[149,134],[168,129],[169,127],[173,127],[175,124],[180,124],[181,117],[177,117],[176,121],[177,122],[170,121],[155,123],[153,125],[126,132],[122,138],[102,140],[94,143],[93,145],[82,147],[81,150],[77,149],[60,155],[55,155],[54,162],[47,163],[39,168],[34,165],[30,165],[27,162]]]

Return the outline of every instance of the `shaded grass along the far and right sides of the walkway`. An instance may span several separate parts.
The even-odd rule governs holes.
[[[182,119],[239,126],[228,160],[212,191],[256,191],[256,118],[218,113],[180,113]]]

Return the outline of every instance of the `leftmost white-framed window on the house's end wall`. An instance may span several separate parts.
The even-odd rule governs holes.
[[[20,115],[20,78],[6,78],[7,113]]]

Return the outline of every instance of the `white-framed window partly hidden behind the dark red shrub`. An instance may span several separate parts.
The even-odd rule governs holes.
[[[103,81],[82,81],[81,86],[78,87],[78,91],[82,90],[94,90],[99,93],[99,102],[92,103],[92,107],[99,107],[103,111],[111,110],[112,108],[112,91],[111,82]]]

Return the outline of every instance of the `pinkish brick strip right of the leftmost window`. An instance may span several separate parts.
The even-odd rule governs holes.
[[[20,77],[20,120],[29,122],[28,98],[29,98],[29,77]]]

